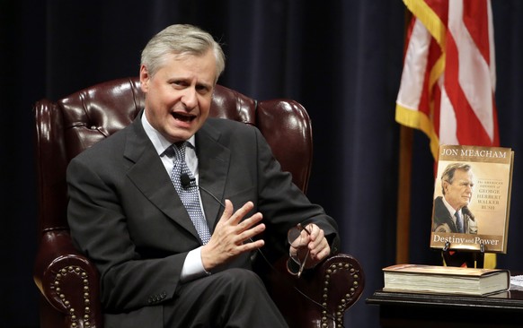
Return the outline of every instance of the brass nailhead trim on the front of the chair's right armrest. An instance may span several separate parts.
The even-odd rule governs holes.
[[[345,294],[345,297],[344,298],[341,298],[339,300],[339,306],[338,306],[338,310],[336,311],[336,314],[335,314],[335,318],[336,318],[336,327],[339,327],[341,328],[343,326],[343,313],[345,312],[345,310],[347,309],[346,306],[347,304],[349,303],[348,301],[350,300],[350,298],[352,298],[352,296],[354,295],[354,293],[356,292],[356,289],[358,289],[359,287],[359,272],[357,272],[353,267],[352,265],[350,265],[349,263],[333,263],[331,264],[331,266],[329,267],[329,269],[327,269],[327,274],[325,274],[325,280],[324,280],[324,295],[323,295],[323,306],[326,308],[327,306],[327,298],[328,298],[328,292],[329,292],[329,286],[331,284],[331,275],[332,273],[335,273],[339,270],[344,270],[344,271],[348,271],[350,273],[350,276],[352,276],[352,286],[350,287],[350,289],[348,290],[348,292]],[[327,324],[327,311],[323,311],[322,312],[322,327],[328,327],[328,324]]]

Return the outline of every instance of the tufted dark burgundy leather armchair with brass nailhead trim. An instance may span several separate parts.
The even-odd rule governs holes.
[[[40,327],[102,327],[99,277],[73,246],[66,220],[66,166],[81,151],[130,124],[144,106],[137,78],[103,82],[33,110],[39,201],[39,247],[34,281],[41,292]],[[211,116],[255,125],[282,168],[306,191],[312,165],[312,130],[305,108],[294,100],[257,101],[217,86]],[[301,278],[285,259],[265,278],[291,327],[341,327],[343,313],[364,287],[358,261],[336,254]],[[300,292],[297,291],[299,289]],[[304,296],[306,295],[306,297]]]

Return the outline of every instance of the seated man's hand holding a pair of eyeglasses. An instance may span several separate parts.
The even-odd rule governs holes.
[[[306,229],[301,231],[301,237],[297,242],[292,243],[289,248],[289,255],[293,258],[299,259],[300,263],[305,261],[307,250],[309,251],[306,260],[306,269],[314,268],[317,263],[320,263],[331,254],[331,246],[325,238],[324,230],[315,224],[308,224]]]

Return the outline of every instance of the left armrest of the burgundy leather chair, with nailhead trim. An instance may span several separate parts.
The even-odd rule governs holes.
[[[67,327],[103,325],[98,272],[73,245],[65,229],[47,230],[40,239],[33,279]]]

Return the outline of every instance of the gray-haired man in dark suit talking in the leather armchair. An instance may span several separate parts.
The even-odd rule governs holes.
[[[161,31],[142,53],[145,109],[67,168],[71,234],[101,273],[107,327],[285,327],[251,271],[253,252],[270,246],[301,263],[308,254],[311,268],[337,250],[335,221],[281,171],[262,134],[208,118],[224,67],[207,32]],[[182,194],[194,183],[204,192],[191,207]],[[286,249],[298,223],[308,232]],[[279,243],[265,245],[263,231]]]

